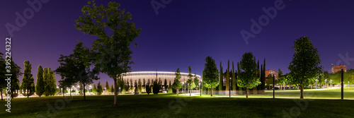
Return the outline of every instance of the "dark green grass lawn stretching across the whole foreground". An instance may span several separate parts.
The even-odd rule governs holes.
[[[286,92],[287,90],[285,90]],[[307,90],[333,93],[338,90]],[[280,91],[278,95],[281,96]],[[289,90],[290,96],[292,91]],[[294,93],[297,92],[294,90]],[[306,91],[305,91],[306,92]],[[314,92],[314,98],[321,93]],[[352,91],[354,93],[354,91]],[[265,96],[269,93],[265,93]],[[296,98],[299,93],[296,93]],[[307,98],[305,94],[305,98]],[[250,95],[250,97],[256,95]],[[326,95],[325,95],[326,96]],[[259,97],[259,96],[258,96]],[[329,95],[331,97],[331,95]],[[339,98],[340,98],[339,91]],[[16,98],[11,100],[11,113],[5,112],[1,101],[1,117],[353,117],[354,100],[321,100],[289,98],[221,98],[175,94],[118,95],[118,106],[113,107],[113,95],[62,96]],[[64,103],[64,105],[62,104]],[[54,113],[54,110],[57,114]],[[50,111],[47,114],[47,111]]]

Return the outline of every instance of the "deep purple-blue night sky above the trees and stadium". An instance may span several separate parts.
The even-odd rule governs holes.
[[[30,0],[33,1],[33,0]],[[227,60],[241,61],[244,52],[253,52],[256,59],[266,59],[266,69],[288,73],[292,61],[296,39],[309,37],[321,55],[321,66],[330,71],[331,64],[346,64],[354,69],[354,59],[343,59],[348,53],[354,58],[354,1],[299,1],[285,0],[282,10],[262,27],[256,37],[250,38],[248,45],[240,31],[251,32],[251,19],[266,15],[262,8],[275,6],[275,1],[185,1],[172,0],[159,8],[156,14],[148,1],[116,1],[120,8],[132,13],[136,28],[142,28],[132,47],[134,54],[132,71],[176,71],[202,75],[205,57],[215,59],[227,69]],[[163,4],[160,0],[156,2]],[[33,18],[21,30],[14,31],[11,37],[11,56],[23,72],[23,61],[32,64],[32,73],[37,78],[38,65],[57,69],[60,54],[72,54],[77,40],[91,47],[97,37],[84,35],[74,27],[75,20],[81,16],[81,8],[86,0],[48,1],[42,4]],[[6,23],[16,25],[16,12],[30,6],[22,0],[0,1],[0,37],[10,37]],[[107,5],[108,1],[97,0],[97,4]],[[29,14],[29,13],[28,13]],[[264,21],[264,20],[263,20]],[[4,53],[5,48],[0,48]],[[230,66],[231,67],[231,66]],[[235,65],[236,68],[236,65]],[[101,73],[101,83],[113,79]],[[56,76],[59,81],[60,76]],[[22,76],[19,78],[22,80]],[[97,84],[98,81],[95,81]]]

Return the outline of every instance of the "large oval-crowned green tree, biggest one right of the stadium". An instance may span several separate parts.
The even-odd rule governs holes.
[[[292,49],[295,49],[295,53],[288,67],[291,76],[289,81],[292,85],[300,87],[300,98],[304,98],[304,86],[314,83],[322,71],[322,66],[319,66],[321,59],[309,37],[297,39]]]

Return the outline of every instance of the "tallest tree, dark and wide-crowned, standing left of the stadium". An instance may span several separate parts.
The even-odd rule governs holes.
[[[114,106],[117,106],[117,78],[131,70],[129,65],[133,62],[130,43],[141,32],[141,29],[135,28],[135,23],[128,21],[132,20],[132,14],[125,13],[125,9],[118,9],[119,6],[115,2],[109,2],[108,7],[96,6],[95,1],[89,1],[81,9],[82,16],[76,20],[75,25],[83,33],[98,37],[93,42],[93,47],[98,52],[96,64],[101,72],[114,80]]]

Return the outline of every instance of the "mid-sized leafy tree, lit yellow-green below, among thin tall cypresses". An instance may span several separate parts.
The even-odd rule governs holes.
[[[244,53],[240,61],[240,71],[237,74],[239,79],[237,85],[241,88],[246,88],[246,98],[249,98],[249,88],[256,87],[261,82],[259,81],[259,75],[257,75],[257,64],[253,57],[252,52]]]

